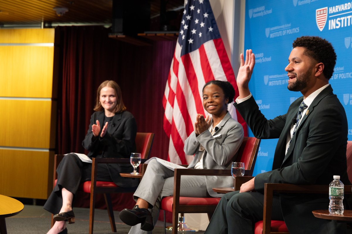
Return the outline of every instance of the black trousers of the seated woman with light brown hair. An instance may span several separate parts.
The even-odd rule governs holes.
[[[53,214],[59,213],[62,207],[62,188],[75,195],[80,184],[92,178],[92,163],[82,162],[76,154],[68,154],[63,157],[56,172],[56,185],[43,207]],[[112,181],[106,164],[98,164],[97,175],[100,181]]]

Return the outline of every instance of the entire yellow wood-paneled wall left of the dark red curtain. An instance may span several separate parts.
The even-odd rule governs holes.
[[[49,28],[0,29],[2,195],[46,199],[52,190],[54,33]]]

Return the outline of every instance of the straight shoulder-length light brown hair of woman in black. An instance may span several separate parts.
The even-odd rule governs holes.
[[[126,106],[125,106],[124,102],[122,101],[120,86],[113,80],[106,80],[99,85],[98,91],[96,92],[96,103],[95,103],[94,111],[103,111],[104,110],[104,108],[101,106],[100,101],[99,101],[100,91],[104,87],[112,87],[115,90],[115,95],[117,98],[117,105],[115,107],[115,113],[126,111]]]

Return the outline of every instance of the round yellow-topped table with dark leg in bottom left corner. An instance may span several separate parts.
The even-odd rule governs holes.
[[[0,195],[0,233],[7,234],[5,218],[17,215],[23,210],[22,202]]]

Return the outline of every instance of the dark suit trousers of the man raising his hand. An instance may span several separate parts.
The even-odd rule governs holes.
[[[226,193],[215,209],[205,234],[251,234],[263,220],[264,195],[257,192]],[[278,196],[273,197],[272,219],[283,220]]]

